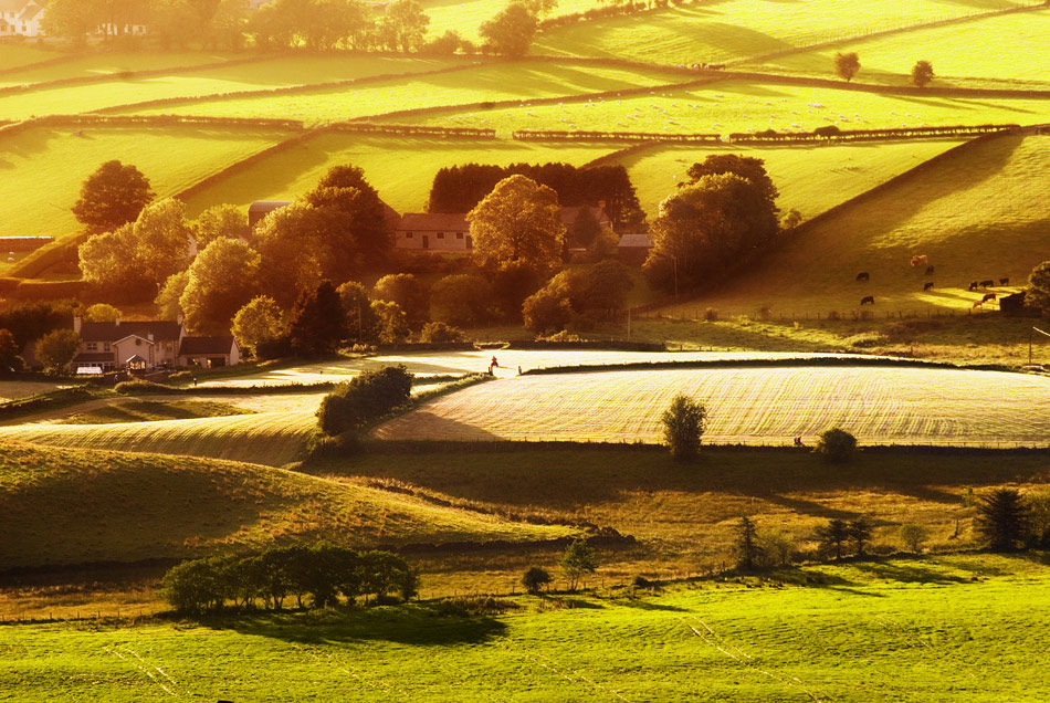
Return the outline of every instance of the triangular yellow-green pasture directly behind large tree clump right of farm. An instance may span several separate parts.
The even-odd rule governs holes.
[[[763,159],[780,191],[783,211],[811,218],[960,144],[951,139],[842,143],[827,146],[660,145],[619,158],[627,167],[642,209],[657,216],[660,202],[686,180],[689,167],[712,154]]]

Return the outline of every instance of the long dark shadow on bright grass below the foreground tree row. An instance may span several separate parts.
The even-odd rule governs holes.
[[[202,619],[200,623],[216,630],[233,630],[304,644],[386,641],[447,647],[482,644],[506,632],[506,625],[489,616],[444,616],[417,605],[368,610],[216,616]]]

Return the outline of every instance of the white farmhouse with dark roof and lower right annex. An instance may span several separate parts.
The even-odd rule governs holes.
[[[73,318],[81,346],[73,371],[151,369],[175,366],[232,366],[241,360],[233,337],[190,337],[181,321],[86,322]]]

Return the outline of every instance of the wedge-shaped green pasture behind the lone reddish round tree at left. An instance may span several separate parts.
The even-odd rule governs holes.
[[[70,208],[84,179],[111,159],[135,165],[162,198],[287,136],[212,126],[39,127],[0,136],[0,233],[61,239],[77,230]]]

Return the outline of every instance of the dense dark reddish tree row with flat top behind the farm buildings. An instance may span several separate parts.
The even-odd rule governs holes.
[[[631,177],[621,165],[577,168],[570,164],[550,162],[445,167],[434,176],[427,211],[469,212],[492,192],[497,182],[514,175],[550,188],[563,206],[597,206],[603,201],[615,230],[630,231],[645,220]]]

